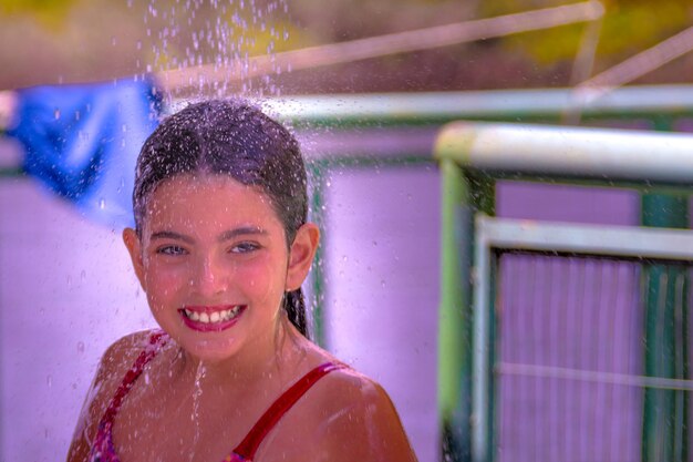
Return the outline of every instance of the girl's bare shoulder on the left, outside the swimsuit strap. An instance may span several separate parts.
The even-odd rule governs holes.
[[[116,340],[103,353],[80,412],[68,454],[69,462],[87,460],[91,441],[96,434],[101,417],[108,407],[123,377],[142,350],[149,343],[152,333],[152,330],[130,333]]]

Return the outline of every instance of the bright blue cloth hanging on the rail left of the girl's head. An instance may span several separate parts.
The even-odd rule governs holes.
[[[113,228],[132,226],[137,155],[162,109],[153,81],[17,93],[14,122],[6,134],[24,146],[24,172],[73,202],[86,218]]]

